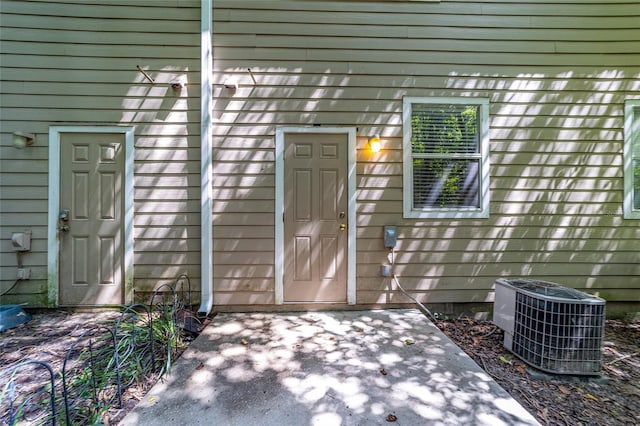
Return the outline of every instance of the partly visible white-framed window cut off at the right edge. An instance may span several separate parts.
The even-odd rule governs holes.
[[[624,104],[624,217],[640,219],[640,99]]]

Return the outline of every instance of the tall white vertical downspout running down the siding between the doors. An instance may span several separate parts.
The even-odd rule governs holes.
[[[200,308],[208,315],[213,308],[213,191],[211,188],[213,0],[200,0]]]

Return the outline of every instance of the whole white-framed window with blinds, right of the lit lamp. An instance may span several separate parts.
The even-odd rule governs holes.
[[[404,98],[404,217],[489,217],[489,100]]]

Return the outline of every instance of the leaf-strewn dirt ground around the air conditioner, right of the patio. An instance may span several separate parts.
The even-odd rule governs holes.
[[[543,425],[640,425],[640,322],[606,321],[600,377],[529,367],[502,346],[503,332],[490,321],[438,326]]]

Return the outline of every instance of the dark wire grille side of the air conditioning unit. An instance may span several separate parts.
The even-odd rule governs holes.
[[[516,293],[512,351],[541,370],[597,374],[602,368],[604,304]]]

